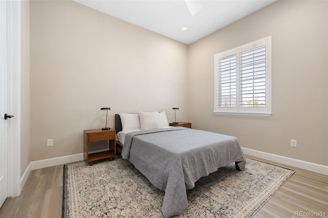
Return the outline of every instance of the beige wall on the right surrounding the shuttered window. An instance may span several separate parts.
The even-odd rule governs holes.
[[[192,43],[193,127],[234,135],[245,148],[328,165],[327,12],[327,1],[278,1]],[[272,116],[214,115],[214,54],[270,35]]]

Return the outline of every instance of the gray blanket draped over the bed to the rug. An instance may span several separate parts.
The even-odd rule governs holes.
[[[245,158],[237,138],[185,127],[128,133],[121,153],[158,189],[164,190],[162,213],[177,215],[187,207],[187,191],[201,177]]]

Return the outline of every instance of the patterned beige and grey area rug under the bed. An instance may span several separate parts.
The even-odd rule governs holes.
[[[188,206],[175,217],[252,217],[294,170],[247,158],[219,168],[187,190]],[[163,217],[164,191],[127,160],[64,166],[63,217]]]

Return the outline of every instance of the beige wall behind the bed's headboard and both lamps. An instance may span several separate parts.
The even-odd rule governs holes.
[[[187,45],[72,1],[31,1],[31,159],[83,152],[114,114],[187,120]],[[53,146],[47,147],[47,139]]]

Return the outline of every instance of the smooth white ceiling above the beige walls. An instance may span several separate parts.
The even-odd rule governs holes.
[[[189,45],[276,0],[73,1]]]

